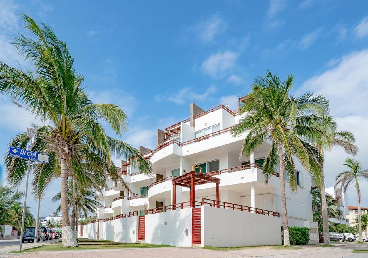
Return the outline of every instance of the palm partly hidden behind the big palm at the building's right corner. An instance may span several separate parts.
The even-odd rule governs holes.
[[[321,138],[316,141],[316,146],[320,155],[323,157],[325,151],[331,151],[332,147],[342,147],[346,153],[356,155],[358,148],[353,144],[355,137],[349,131],[337,131],[337,123],[331,116],[327,116],[319,121],[319,126],[323,129]],[[321,172],[323,174],[323,164],[321,165]],[[321,193],[326,196],[325,179],[321,177]],[[322,220],[323,220],[323,244],[330,244],[329,236],[329,220],[328,220],[328,205],[326,198],[322,198]]]

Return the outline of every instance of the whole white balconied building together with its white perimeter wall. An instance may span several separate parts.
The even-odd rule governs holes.
[[[135,242],[143,235],[148,243],[174,246],[194,243],[202,246],[280,244],[282,219],[274,217],[275,213],[264,215],[268,211],[282,213],[278,173],[276,171],[265,185],[261,170],[270,145],[265,143],[251,156],[244,155],[239,159],[246,134],[230,135],[239,119],[238,109],[229,110],[220,105],[205,111],[192,103],[190,118],[165,130],[157,130],[155,150],[139,146],[141,153],[152,163],[152,175],[142,174],[138,168],[122,161],[121,168],[117,169],[134,194],[120,185],[113,185],[112,181],[107,182],[108,188],[100,196],[103,206],[96,211],[100,222],[84,225],[84,229],[79,230],[84,234],[82,237]],[[318,226],[312,220],[309,193],[311,180],[298,162],[296,168],[297,192],[292,193],[288,184],[286,187],[289,226],[311,228],[311,243],[317,243]],[[190,191],[181,186],[177,187],[176,210],[173,210],[173,179],[192,170],[220,179],[220,208],[210,207],[211,201],[201,205],[202,198],[216,200],[216,184],[204,183],[195,186],[194,206],[198,206],[197,210],[192,212],[186,208],[190,206]],[[254,210],[246,210],[246,206],[257,208],[257,214]],[[138,217],[135,216],[137,213],[142,216],[138,222],[133,218]],[[195,224],[196,218],[201,223]],[[117,222],[127,219],[135,222]],[[128,223],[136,228],[125,232]],[[142,228],[136,224],[144,225]],[[169,224],[171,226],[167,226]],[[138,236],[134,235],[137,231]],[[158,233],[165,236],[157,237]],[[195,236],[198,241],[193,240]]]

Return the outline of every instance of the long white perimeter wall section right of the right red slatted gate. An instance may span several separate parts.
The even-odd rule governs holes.
[[[201,206],[201,246],[233,247],[281,244],[278,217]]]

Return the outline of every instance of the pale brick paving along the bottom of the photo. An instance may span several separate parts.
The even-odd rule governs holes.
[[[273,250],[270,247],[251,247],[230,251],[214,251],[195,247],[166,247],[166,248],[120,248],[120,249],[99,249],[99,250],[81,250],[81,251],[55,251],[55,252],[34,252],[30,254],[6,254],[0,257],[13,258],[162,258],[162,257],[308,257],[308,258],[339,258],[339,257],[367,257],[367,254],[353,254],[354,249],[368,249],[368,246],[336,245],[336,247],[318,247],[302,246],[299,250]]]

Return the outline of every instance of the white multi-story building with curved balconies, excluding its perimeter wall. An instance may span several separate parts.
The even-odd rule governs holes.
[[[142,155],[152,163],[151,175],[143,174],[137,167],[122,161],[117,170],[131,192],[121,185],[113,185],[112,181],[107,182],[108,188],[100,196],[103,206],[96,210],[97,219],[107,221],[134,211],[144,215],[170,209],[173,207],[173,179],[190,171],[220,179],[219,199],[223,203],[282,213],[278,171],[265,184],[261,170],[270,144],[264,143],[255,153],[239,158],[247,134],[232,137],[230,130],[240,117],[239,109],[230,110],[220,105],[205,111],[192,103],[188,119],[165,130],[157,130],[156,149],[139,146]],[[311,228],[311,241],[316,242],[318,227],[312,220],[311,180],[297,159],[296,169],[297,192],[291,192],[286,183],[289,226]],[[188,202],[190,190],[178,186],[175,198],[175,205]],[[195,186],[195,201],[202,201],[202,198],[216,199],[215,183]],[[282,220],[277,223],[280,227]],[[146,223],[146,234],[147,227]],[[105,233],[103,237],[106,237]]]

